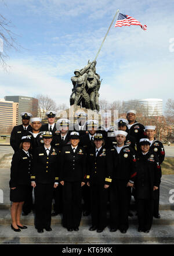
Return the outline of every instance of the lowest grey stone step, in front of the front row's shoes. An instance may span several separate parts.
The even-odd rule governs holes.
[[[149,233],[137,232],[137,225],[130,225],[126,234],[111,233],[106,227],[102,233],[89,231],[89,226],[79,227],[78,232],[68,232],[61,225],[52,225],[52,232],[38,233],[28,225],[21,232],[14,232],[10,225],[2,225],[0,244],[173,244],[174,225],[153,225]]]

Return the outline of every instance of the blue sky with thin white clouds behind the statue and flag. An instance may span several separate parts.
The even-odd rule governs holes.
[[[165,108],[174,98],[173,0],[0,0],[23,47],[8,52],[11,69],[0,70],[0,98],[41,93],[69,105],[71,76],[95,59],[117,9],[147,31],[114,22],[97,58],[100,99],[162,98]]]

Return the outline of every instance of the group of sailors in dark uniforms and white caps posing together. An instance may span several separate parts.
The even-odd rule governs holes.
[[[21,113],[22,125],[11,133],[12,229],[26,229],[21,213],[33,209],[38,233],[50,232],[51,218],[58,214],[68,232],[79,230],[83,214],[91,216],[90,231],[101,233],[108,225],[110,232],[126,233],[134,197],[137,230],[148,233],[153,218],[160,218],[165,157],[155,126],[137,122],[134,109],[114,126],[108,123],[108,113],[103,114],[103,125],[89,120],[84,111],[76,113],[75,123],[64,118],[55,123],[55,111],[46,116],[48,124],[42,125],[41,118]]]

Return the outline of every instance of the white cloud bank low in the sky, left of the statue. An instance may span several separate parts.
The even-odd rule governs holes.
[[[71,84],[61,79],[52,77],[45,69],[26,65],[21,61],[10,63],[13,67],[10,73],[0,71],[1,98],[5,95],[26,95],[34,97],[37,94],[49,95],[57,104],[68,105],[71,94]]]

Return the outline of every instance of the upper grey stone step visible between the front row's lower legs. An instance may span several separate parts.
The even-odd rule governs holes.
[[[135,212],[133,212],[135,214]],[[165,210],[160,211],[161,219],[153,219],[154,225],[174,225],[174,211],[171,210]],[[108,214],[109,218],[109,214]],[[10,224],[12,222],[11,215],[9,209],[3,209],[0,211],[0,224]],[[27,216],[21,216],[21,222],[24,225],[34,225],[34,213],[31,212]],[[62,215],[52,216],[52,225],[60,225],[62,222]],[[91,223],[91,217],[89,216],[82,216],[81,219],[81,226],[83,225],[90,225]],[[137,216],[133,215],[132,217],[129,217],[129,223],[130,224],[137,224]],[[174,241],[174,240],[173,240]]]

